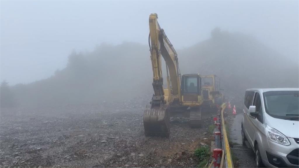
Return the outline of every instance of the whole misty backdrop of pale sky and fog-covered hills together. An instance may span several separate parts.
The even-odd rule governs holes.
[[[299,85],[298,1],[1,1],[1,103],[152,94],[150,13],[181,73],[218,75],[236,102],[246,88]]]

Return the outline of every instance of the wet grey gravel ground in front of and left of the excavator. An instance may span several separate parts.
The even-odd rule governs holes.
[[[201,129],[171,118],[170,138],[145,137],[147,102],[1,109],[0,166],[196,167],[193,152],[210,143],[213,116],[203,116]]]

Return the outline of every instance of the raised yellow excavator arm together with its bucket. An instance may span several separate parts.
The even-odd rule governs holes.
[[[157,21],[157,14],[149,16],[149,48],[153,70],[154,95],[151,107],[144,110],[146,136],[169,136],[169,105],[164,100],[161,57],[166,62],[169,103],[181,102],[181,76],[176,50]],[[170,88],[170,85],[172,86]]]

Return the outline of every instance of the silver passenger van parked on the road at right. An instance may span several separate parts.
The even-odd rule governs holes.
[[[299,88],[247,89],[242,142],[255,152],[256,167],[298,167]]]

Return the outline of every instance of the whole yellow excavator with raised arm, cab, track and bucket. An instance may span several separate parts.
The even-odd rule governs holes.
[[[203,103],[199,74],[181,75],[176,50],[158,24],[157,14],[149,16],[149,48],[154,94],[144,110],[145,136],[169,137],[170,117],[189,118],[190,127],[201,127]],[[166,62],[167,88],[163,88],[162,62]]]

